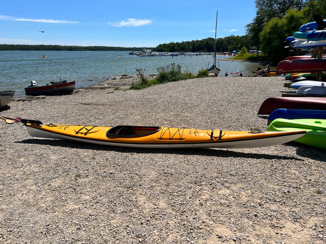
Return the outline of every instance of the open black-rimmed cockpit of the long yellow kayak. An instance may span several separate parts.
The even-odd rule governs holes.
[[[113,137],[139,137],[154,134],[160,129],[157,126],[116,126],[108,130],[106,135]]]

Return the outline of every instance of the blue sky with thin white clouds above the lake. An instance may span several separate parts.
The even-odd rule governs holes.
[[[254,0],[0,0],[0,44],[156,47],[213,38],[216,11],[217,37],[256,14]]]

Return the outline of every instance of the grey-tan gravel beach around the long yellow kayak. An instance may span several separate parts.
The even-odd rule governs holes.
[[[12,101],[5,117],[94,126],[267,129],[283,77],[128,90],[106,80]],[[121,84],[120,84],[121,83]],[[100,89],[101,88],[101,89]],[[326,151],[137,149],[30,137],[0,120],[0,243],[326,243]]]

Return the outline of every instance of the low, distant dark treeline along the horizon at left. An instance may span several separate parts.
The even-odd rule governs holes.
[[[141,51],[144,47],[106,47],[106,46],[60,46],[60,45],[12,45],[0,44],[0,50],[24,51]],[[148,49],[148,48],[147,48]]]

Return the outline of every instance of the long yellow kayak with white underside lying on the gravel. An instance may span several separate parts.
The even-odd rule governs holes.
[[[33,137],[75,140],[87,143],[141,147],[141,148],[189,148],[220,147],[250,148],[273,146],[295,140],[304,131],[290,133],[197,130],[168,127],[96,127],[75,125],[31,124],[21,120]],[[30,123],[29,123],[30,122]],[[121,132],[122,131],[122,132]]]

